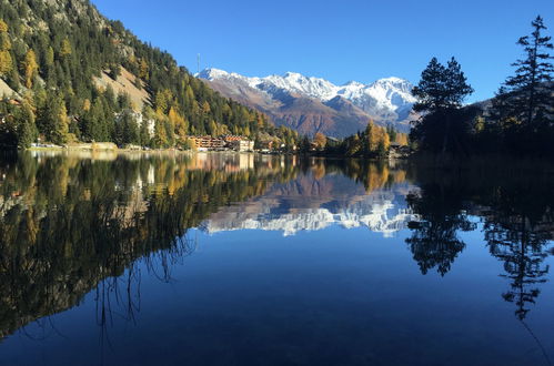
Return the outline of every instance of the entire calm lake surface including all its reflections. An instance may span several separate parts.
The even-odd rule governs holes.
[[[554,175],[0,157],[1,365],[550,365]]]

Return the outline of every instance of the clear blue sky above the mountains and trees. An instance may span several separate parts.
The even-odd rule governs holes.
[[[197,71],[249,77],[295,71],[336,84],[400,77],[417,82],[435,55],[454,55],[475,93],[493,95],[537,14],[548,34],[554,0],[92,0],[140,39]]]

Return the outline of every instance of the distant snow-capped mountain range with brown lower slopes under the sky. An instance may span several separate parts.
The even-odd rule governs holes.
[[[386,78],[371,84],[351,81],[344,85],[288,72],[284,75],[249,78],[218,69],[198,74],[212,88],[268,113],[278,124],[303,133],[318,131],[345,136],[365,126],[370,119],[409,130],[412,84],[400,78]]]

